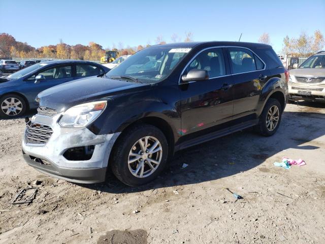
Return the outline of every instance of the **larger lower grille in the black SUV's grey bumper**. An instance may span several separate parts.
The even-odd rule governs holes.
[[[53,131],[50,126],[33,123],[26,125],[25,142],[32,144],[45,144],[51,137]]]

